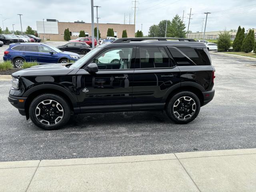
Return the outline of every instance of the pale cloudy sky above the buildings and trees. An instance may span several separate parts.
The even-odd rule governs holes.
[[[94,0],[98,8],[99,23],[134,24],[135,0]],[[57,19],[60,22],[74,22],[83,20],[91,23],[90,0],[0,0],[0,21],[4,20],[4,28],[20,30],[20,16],[22,16],[23,31],[29,25],[36,30],[36,21]],[[12,9],[8,7],[11,5]],[[16,7],[16,8],[15,8]],[[220,31],[237,29],[240,25],[246,30],[256,28],[256,0],[136,0],[136,31],[141,30],[144,35],[153,24],[161,20],[172,20],[178,14],[183,16],[186,30],[191,10],[189,30],[202,31],[202,21],[208,14],[206,31]],[[125,17],[124,17],[125,14]],[[96,8],[94,8],[96,17]],[[94,19],[96,22],[96,19]],[[142,24],[142,26],[141,26]],[[0,22],[2,28],[2,22]],[[204,26],[203,26],[204,30]]]

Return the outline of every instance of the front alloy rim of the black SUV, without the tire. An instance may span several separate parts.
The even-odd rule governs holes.
[[[55,100],[44,100],[36,106],[36,118],[45,125],[58,124],[63,116],[64,109],[60,103]]]

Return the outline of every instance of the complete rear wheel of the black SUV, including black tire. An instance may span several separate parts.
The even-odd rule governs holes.
[[[192,100],[190,100],[190,98]],[[175,94],[166,106],[166,114],[177,124],[186,124],[191,122],[198,116],[199,111],[200,100],[196,94],[189,91],[182,91]]]

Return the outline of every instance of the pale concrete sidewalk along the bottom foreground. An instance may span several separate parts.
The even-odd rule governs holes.
[[[1,192],[253,192],[256,148],[0,162]]]

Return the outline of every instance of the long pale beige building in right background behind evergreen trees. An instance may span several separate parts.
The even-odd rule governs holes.
[[[219,38],[219,34],[221,32],[224,31],[210,31],[210,32],[205,32],[205,36],[204,36],[204,32],[199,32],[199,33],[189,33],[188,34],[188,38],[191,39],[218,39]],[[236,32],[230,32],[230,38],[232,40],[234,40],[234,38],[236,37]]]

